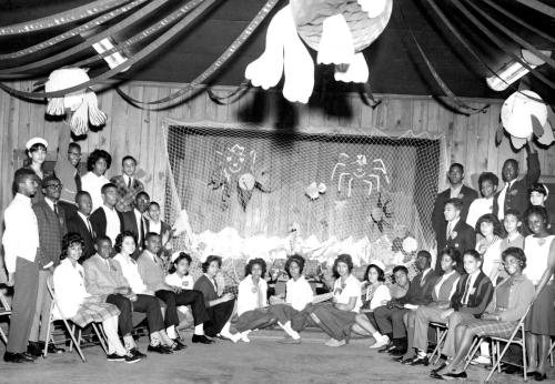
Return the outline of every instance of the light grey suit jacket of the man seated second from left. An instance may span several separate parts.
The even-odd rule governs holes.
[[[118,287],[129,287],[120,263],[112,259],[107,260],[110,263],[110,270],[108,270],[105,260],[98,253],[83,263],[84,286],[87,292],[92,295],[107,296],[114,293]]]

